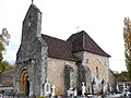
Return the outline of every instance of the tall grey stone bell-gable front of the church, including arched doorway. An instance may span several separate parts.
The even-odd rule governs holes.
[[[44,83],[46,76],[46,73],[41,72],[41,66],[44,70],[46,63],[46,60],[41,62],[41,52],[44,49],[46,52],[47,48],[41,39],[40,32],[41,12],[32,3],[23,21],[22,38],[16,53],[15,68],[15,90],[22,95],[29,96],[29,98],[40,95],[41,83]],[[43,59],[45,59],[46,54],[43,56]]]

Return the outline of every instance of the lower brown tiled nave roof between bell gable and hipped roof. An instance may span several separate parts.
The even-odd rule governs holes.
[[[48,46],[48,56],[51,58],[58,58],[63,60],[75,61],[72,54],[71,44],[55,37],[41,35],[43,39]]]

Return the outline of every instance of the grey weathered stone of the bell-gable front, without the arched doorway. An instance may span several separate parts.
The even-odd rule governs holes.
[[[16,54],[16,71],[22,68],[23,63],[35,60],[35,70],[33,83],[34,89],[37,89],[35,95],[40,95],[41,85],[45,82],[46,76],[46,57],[47,57],[47,45],[41,38],[41,12],[34,5],[31,4],[26,16],[23,21],[22,39],[21,45]],[[43,53],[41,53],[43,52]],[[41,66],[43,65],[43,66]],[[41,71],[43,70],[43,71]],[[29,71],[29,70],[27,70]],[[17,71],[19,72],[19,71]],[[17,74],[17,73],[16,73]],[[29,74],[28,76],[32,76]],[[43,78],[43,79],[41,79]],[[19,77],[16,77],[19,81]]]

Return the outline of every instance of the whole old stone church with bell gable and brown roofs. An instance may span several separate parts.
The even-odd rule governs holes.
[[[80,94],[83,82],[87,93],[100,93],[102,85],[107,91],[109,57],[84,30],[67,40],[41,34],[41,12],[31,4],[16,53],[14,88],[31,98],[52,86],[56,95],[67,95],[71,88]]]

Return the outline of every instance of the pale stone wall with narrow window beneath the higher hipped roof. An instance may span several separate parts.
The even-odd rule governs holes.
[[[92,72],[92,81],[95,78],[97,91],[100,91],[102,81],[105,81],[105,90],[109,83],[109,59],[99,54],[84,52],[83,65],[86,65]]]

